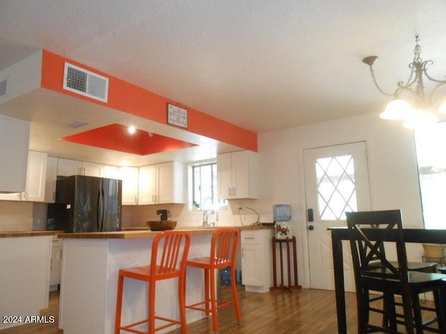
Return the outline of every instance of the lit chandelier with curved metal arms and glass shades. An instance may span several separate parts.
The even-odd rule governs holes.
[[[438,103],[438,100],[435,100],[435,93],[440,86],[446,84],[446,80],[437,80],[429,77],[426,67],[433,64],[433,61],[422,61],[421,48],[418,45],[419,40],[419,36],[416,35],[413,61],[409,64],[409,77],[406,83],[403,81],[397,83],[398,88],[393,94],[385,93],[376,81],[373,65],[378,56],[368,56],[362,59],[363,63],[369,65],[371,77],[379,92],[392,97],[392,101],[387,104],[383,113],[380,113],[380,118],[385,120],[403,120],[403,126],[409,129],[435,124],[438,122],[438,113],[446,114],[446,100],[443,103]],[[433,81],[435,84],[429,96],[426,96],[424,93],[423,74],[429,81]]]

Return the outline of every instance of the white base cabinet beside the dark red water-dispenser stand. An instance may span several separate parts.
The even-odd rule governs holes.
[[[246,291],[268,292],[272,286],[272,229],[242,230],[240,239]]]

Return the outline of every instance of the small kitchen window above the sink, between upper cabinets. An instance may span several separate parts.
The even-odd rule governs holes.
[[[192,198],[197,209],[218,209],[216,162],[192,166],[192,184]]]

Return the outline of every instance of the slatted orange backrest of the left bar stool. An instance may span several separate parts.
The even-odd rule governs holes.
[[[152,276],[178,276],[184,271],[190,248],[190,234],[185,231],[160,232],[152,244]]]

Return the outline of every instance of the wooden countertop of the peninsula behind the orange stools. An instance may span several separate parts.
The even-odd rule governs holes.
[[[272,229],[272,226],[224,226],[227,228],[235,227],[238,230],[262,230]],[[201,228],[201,227],[184,227],[176,228],[176,231],[187,231],[190,234],[210,234],[215,232],[217,228]],[[88,232],[88,233],[62,233],[59,238],[64,239],[138,239],[138,238],[153,238],[160,233],[157,231],[150,231],[147,228],[123,228],[119,232]]]

